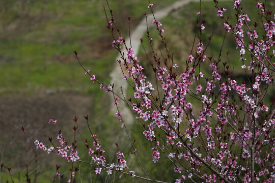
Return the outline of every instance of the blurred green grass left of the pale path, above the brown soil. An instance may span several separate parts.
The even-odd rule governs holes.
[[[81,61],[87,69],[101,81],[108,81],[117,53],[111,47],[111,34],[106,28],[105,1],[29,1],[29,4],[3,1],[2,4],[7,8],[0,11],[5,25],[0,37],[0,67],[4,70],[0,93],[11,90],[32,93],[37,87],[89,87],[87,78],[82,79],[83,72],[74,58],[74,50],[78,50],[80,58],[85,58]],[[127,32],[124,16],[132,16],[134,25],[143,17],[143,11],[149,11],[147,4],[141,0],[109,2],[122,33]],[[161,8],[169,1],[157,4],[156,8]],[[36,20],[36,17],[39,18]],[[103,38],[107,39],[107,49],[113,51],[104,51],[106,48],[100,44]],[[60,62],[59,56],[65,57],[64,62]]]

